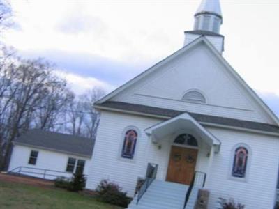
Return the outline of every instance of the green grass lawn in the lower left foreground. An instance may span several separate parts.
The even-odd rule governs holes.
[[[0,208],[123,209],[100,203],[92,196],[63,189],[34,187],[0,181]]]

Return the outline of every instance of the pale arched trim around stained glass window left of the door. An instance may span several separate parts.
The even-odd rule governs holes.
[[[128,132],[128,130],[135,130],[135,132],[137,132],[137,142],[135,144],[135,150],[134,150],[134,155],[133,158],[126,158],[126,157],[122,157],[122,150],[123,150],[123,145],[125,143],[125,136],[126,136],[126,132]],[[127,161],[127,162],[135,162],[135,159],[137,157],[137,146],[139,144],[139,139],[140,139],[141,133],[140,133],[140,129],[137,128],[136,126],[130,125],[128,127],[125,127],[121,133],[121,143],[119,146],[119,155],[118,155],[118,159],[122,160],[122,161]]]

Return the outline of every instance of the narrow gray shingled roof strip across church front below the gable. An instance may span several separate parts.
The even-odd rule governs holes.
[[[186,111],[177,111],[174,109],[164,109],[159,107],[151,107],[141,104],[130,104],[125,102],[103,102],[102,104],[97,104],[97,106],[107,107],[112,109],[122,109],[125,111],[135,111],[143,114],[151,114],[156,116],[166,116],[169,118],[183,114]],[[274,132],[279,133],[279,127],[276,125],[270,125],[267,123],[257,123],[253,121],[243,121],[233,118],[224,118],[219,116],[209,116],[204,114],[190,113],[190,116],[195,118],[198,122],[203,123],[215,123],[218,125],[227,125],[232,127],[241,127],[250,130],[259,130],[264,132]]]

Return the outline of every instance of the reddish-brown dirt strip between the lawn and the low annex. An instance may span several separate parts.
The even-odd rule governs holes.
[[[38,187],[54,187],[54,182],[52,180],[45,180],[28,176],[15,176],[7,173],[0,173],[0,181],[23,183]]]

